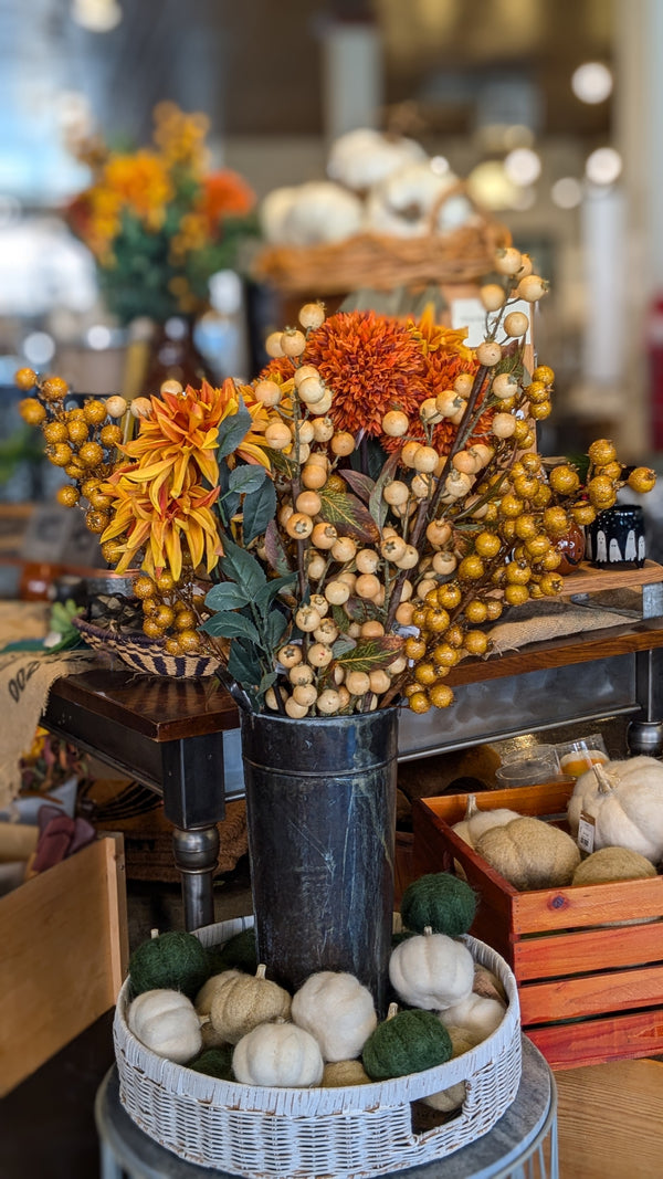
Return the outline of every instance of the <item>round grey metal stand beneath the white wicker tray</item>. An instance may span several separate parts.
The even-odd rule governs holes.
[[[143,1133],[120,1105],[114,1067],[99,1087],[94,1117],[101,1179],[229,1179],[227,1172],[185,1162]],[[388,1179],[558,1179],[558,1174],[554,1078],[539,1050],[523,1038],[520,1087],[497,1125],[447,1158],[390,1172]]]

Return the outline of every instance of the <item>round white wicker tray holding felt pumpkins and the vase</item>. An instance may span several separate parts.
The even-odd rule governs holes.
[[[215,946],[251,924],[252,917],[241,917],[197,935]],[[446,1065],[347,1088],[261,1088],[173,1065],[129,1030],[126,981],[113,1025],[122,1105],[140,1129],[179,1158],[247,1179],[365,1179],[452,1154],[501,1118],[516,1099],[521,1069],[516,979],[490,946],[464,941],[506,989],[508,1008],[497,1030]],[[411,1102],[459,1081],[466,1084],[466,1098],[458,1115],[432,1129],[413,1129]]]

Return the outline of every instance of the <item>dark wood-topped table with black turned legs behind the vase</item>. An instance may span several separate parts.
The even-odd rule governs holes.
[[[618,713],[635,718],[641,745],[634,739],[632,752],[658,751],[648,742],[663,737],[663,567],[648,561],[629,574],[599,575],[582,569],[566,582],[565,597],[577,600],[597,587],[642,587],[643,617],[465,660],[448,677],[458,697],[451,712],[403,712],[400,759]],[[58,680],[42,724],[163,796],[186,928],[212,924],[216,824],[225,799],[243,795],[237,707],[214,677],[175,680],[122,667],[101,657],[97,668]]]

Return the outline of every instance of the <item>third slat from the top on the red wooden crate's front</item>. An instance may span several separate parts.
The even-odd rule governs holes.
[[[659,1003],[663,966],[527,982],[519,988],[523,1025],[573,1020]]]

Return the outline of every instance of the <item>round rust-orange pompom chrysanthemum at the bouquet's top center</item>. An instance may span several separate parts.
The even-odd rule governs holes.
[[[426,396],[421,348],[405,323],[375,311],[339,311],[311,331],[303,357],[334,394],[329,416],[342,430],[382,435],[389,409],[416,415]],[[389,440],[390,441],[390,440]]]

